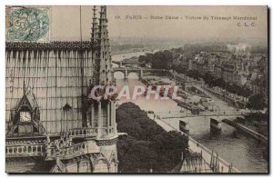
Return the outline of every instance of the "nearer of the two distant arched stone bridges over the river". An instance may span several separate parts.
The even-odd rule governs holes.
[[[124,74],[124,78],[127,79],[128,75],[131,73],[136,73],[139,78],[142,78],[147,73],[158,73],[158,72],[167,72],[165,69],[149,69],[149,68],[135,68],[135,67],[116,67],[113,68],[114,73],[121,72]]]

